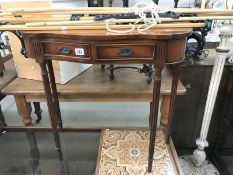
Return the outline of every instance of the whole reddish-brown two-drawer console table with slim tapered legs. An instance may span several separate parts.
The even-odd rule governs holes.
[[[23,32],[28,56],[40,64],[47,104],[53,128],[56,148],[61,149],[58,127],[62,120],[58,93],[51,60],[63,60],[91,64],[153,64],[155,68],[153,97],[150,113],[150,143],[148,171],[152,170],[157,127],[161,72],[166,63],[174,64],[174,78],[167,139],[169,141],[171,116],[174,111],[178,68],[185,55],[186,38],[192,29],[151,29],[145,33],[136,31],[127,35],[109,33],[106,30],[78,31],[29,31]],[[94,87],[93,87],[94,88]]]

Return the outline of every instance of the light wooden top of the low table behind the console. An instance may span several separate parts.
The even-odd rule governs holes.
[[[59,95],[86,95],[90,98],[101,96],[121,96],[123,98],[150,99],[153,92],[153,82],[147,84],[145,74],[138,73],[134,69],[116,69],[115,79],[110,81],[109,70],[101,69],[94,65],[76,76],[65,85],[57,84]],[[172,75],[164,69],[162,73],[161,94],[171,93]],[[35,96],[44,95],[44,88],[41,81],[17,78],[2,90],[5,94],[31,94]],[[185,94],[186,89],[181,82],[178,84],[177,94]]]

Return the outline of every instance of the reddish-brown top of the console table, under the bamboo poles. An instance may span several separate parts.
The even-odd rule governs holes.
[[[90,40],[114,40],[114,39],[176,39],[183,38],[191,34],[192,28],[162,28],[149,29],[144,32],[137,30],[128,33],[112,33],[105,30],[60,30],[60,31],[22,31],[25,36],[37,37],[59,37],[72,39]]]

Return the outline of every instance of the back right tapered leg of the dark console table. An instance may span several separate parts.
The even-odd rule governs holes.
[[[170,105],[169,105],[170,107],[169,107],[169,114],[168,114],[168,124],[167,124],[167,132],[166,132],[166,143],[167,144],[169,143],[169,139],[171,136],[171,126],[172,126],[172,119],[174,115],[174,108],[175,108],[175,102],[176,102],[179,69],[180,69],[180,64],[174,65],[171,98],[170,98]]]

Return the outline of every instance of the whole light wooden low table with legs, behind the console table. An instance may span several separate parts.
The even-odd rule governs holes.
[[[94,65],[65,85],[57,85],[59,101],[101,102],[101,101],[152,101],[153,85],[145,85],[145,77],[134,70],[118,70],[115,81],[108,79],[109,71]],[[30,86],[28,86],[30,84]],[[172,75],[165,69],[161,82],[161,123],[166,124],[169,112]],[[93,88],[95,87],[95,88]],[[44,102],[43,83],[17,78],[2,89],[6,95],[14,95],[19,114],[25,126],[32,125],[31,102]],[[177,95],[184,95],[186,89],[179,82]],[[39,109],[40,110],[40,109]],[[38,111],[39,111],[38,110]],[[41,114],[41,113],[40,113]]]

